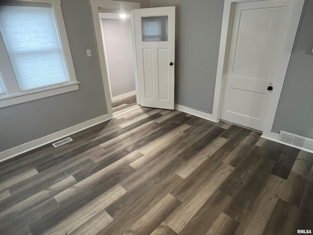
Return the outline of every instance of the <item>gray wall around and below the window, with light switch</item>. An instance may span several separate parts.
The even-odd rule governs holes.
[[[107,114],[89,0],[61,2],[79,91],[0,109],[0,152]]]

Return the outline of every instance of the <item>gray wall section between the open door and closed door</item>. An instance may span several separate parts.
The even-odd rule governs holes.
[[[151,0],[176,6],[176,103],[212,113],[223,0]]]

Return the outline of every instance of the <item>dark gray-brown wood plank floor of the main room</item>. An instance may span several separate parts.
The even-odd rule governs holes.
[[[139,108],[0,165],[1,235],[295,235],[313,155],[225,122]]]

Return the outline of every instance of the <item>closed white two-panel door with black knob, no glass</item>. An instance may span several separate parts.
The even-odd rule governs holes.
[[[267,108],[281,92],[275,83],[286,74],[280,61],[291,12],[292,0],[235,4],[222,119],[260,131],[269,124]]]

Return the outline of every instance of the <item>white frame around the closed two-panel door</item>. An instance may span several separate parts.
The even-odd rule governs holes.
[[[223,97],[224,97],[224,88],[226,80],[226,70],[227,70],[227,61],[228,61],[228,52],[230,46],[230,37],[231,37],[231,28],[232,20],[234,14],[235,3],[241,2],[251,2],[251,1],[261,1],[261,0],[224,0],[224,11],[223,11],[223,21],[222,21],[222,31],[221,31],[221,41],[220,41],[220,50],[219,50],[219,59],[217,66],[216,74],[216,83],[215,83],[215,92],[214,92],[214,102],[213,102],[213,111],[212,118],[213,120],[219,121],[222,115],[223,107]],[[305,0],[291,0],[293,3],[291,19],[289,22],[289,28],[287,32],[286,42],[284,45],[284,54],[281,57],[282,65],[280,68],[281,81],[275,83],[275,90],[278,90],[274,95],[273,102],[268,106],[268,112],[266,112],[264,121],[268,123],[265,130],[263,131],[262,137],[268,139],[278,140],[278,134],[272,133],[272,125],[276,115],[277,106],[279,103],[280,94],[283,88],[285,81],[285,76],[287,73],[289,61],[291,58],[292,47],[295,42],[296,33],[298,30],[299,22],[301,19],[302,9],[304,6]]]

